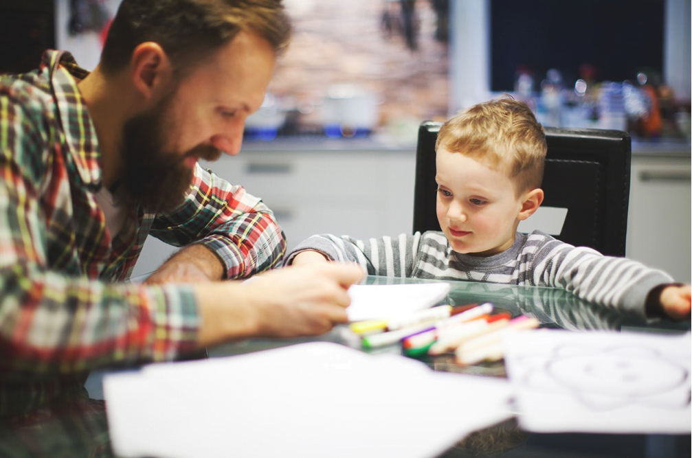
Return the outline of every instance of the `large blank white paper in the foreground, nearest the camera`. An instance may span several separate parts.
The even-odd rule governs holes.
[[[509,383],[329,342],[104,378],[120,457],[435,457],[511,416]]]

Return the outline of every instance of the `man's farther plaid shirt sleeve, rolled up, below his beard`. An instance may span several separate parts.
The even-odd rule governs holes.
[[[210,248],[228,279],[273,268],[286,253],[286,237],[262,199],[199,164],[184,203],[170,214],[159,214],[150,233],[174,246]]]

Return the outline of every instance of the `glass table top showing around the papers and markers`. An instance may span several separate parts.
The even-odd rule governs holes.
[[[439,280],[434,280],[438,282]],[[433,280],[367,277],[367,284],[402,284]],[[634,315],[623,315],[602,306],[594,306],[574,295],[554,288],[507,286],[475,282],[448,282],[450,292],[440,303],[450,305],[491,302],[495,311],[512,316],[529,315],[542,327],[589,331],[645,331],[684,333],[690,322],[657,320],[647,322]],[[260,351],[300,342],[328,341],[363,349],[360,338],[345,325],[314,338],[250,339],[208,349],[217,358]],[[400,345],[363,351],[401,353]],[[504,377],[504,363],[480,363],[459,366],[449,355],[424,356],[424,363],[445,372]],[[122,369],[121,369],[122,370]],[[126,369],[131,370],[131,369]],[[97,371],[87,381],[77,383],[53,380],[40,395],[39,381],[0,382],[0,457],[111,457],[108,423],[100,392]],[[192,438],[191,438],[192,439]],[[690,435],[653,434],[529,434],[520,430],[516,419],[471,434],[442,457],[689,457]],[[338,446],[338,444],[335,444]],[[287,450],[286,457],[291,455]]]

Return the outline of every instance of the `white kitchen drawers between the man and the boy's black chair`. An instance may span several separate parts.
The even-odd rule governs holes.
[[[413,149],[249,150],[202,165],[261,197],[275,212],[289,249],[314,234],[365,239],[412,228]],[[133,277],[153,271],[174,250],[149,237]]]

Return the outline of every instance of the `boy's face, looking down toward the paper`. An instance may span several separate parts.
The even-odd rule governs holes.
[[[507,174],[440,147],[435,178],[437,220],[453,250],[491,256],[513,244],[525,219],[520,217],[524,199],[516,196]]]

